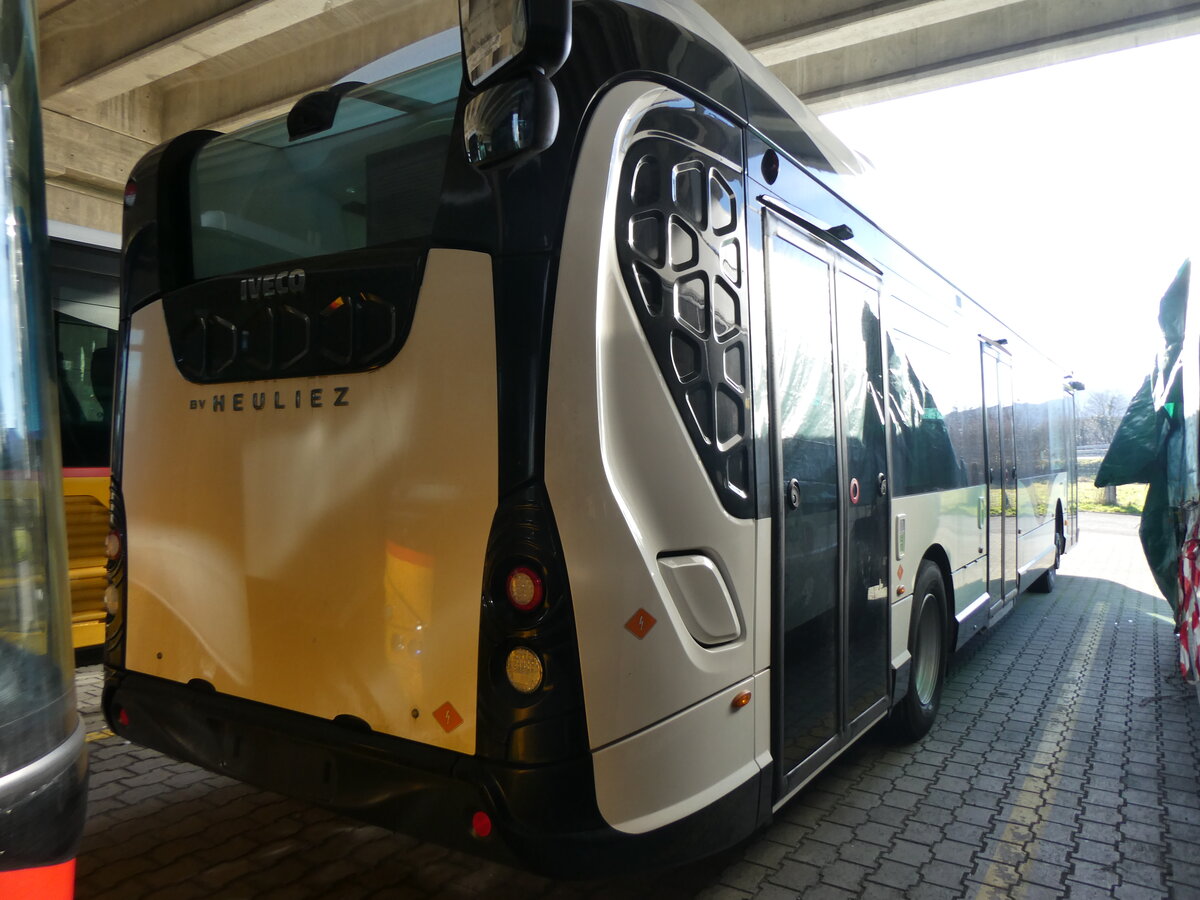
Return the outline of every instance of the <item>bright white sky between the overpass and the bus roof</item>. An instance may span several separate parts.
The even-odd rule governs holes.
[[[875,164],[864,212],[1063,374],[1130,396],[1200,248],[1198,92],[1188,37],[822,119]]]

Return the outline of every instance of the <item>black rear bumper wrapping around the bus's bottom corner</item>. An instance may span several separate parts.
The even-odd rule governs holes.
[[[760,824],[758,778],[632,835],[601,818],[590,755],[536,767],[485,761],[119,670],[108,671],[103,704],[114,731],[169,756],[553,877],[685,862]],[[494,826],[487,838],[472,829],[478,811]]]

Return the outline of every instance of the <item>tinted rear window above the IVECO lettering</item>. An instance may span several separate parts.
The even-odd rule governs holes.
[[[332,127],[286,118],[215,138],[191,173],[197,278],[427,235],[462,78],[457,56],[356,88]]]

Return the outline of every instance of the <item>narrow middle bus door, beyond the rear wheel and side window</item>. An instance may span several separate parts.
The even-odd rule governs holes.
[[[988,593],[995,613],[1016,594],[1013,366],[1002,346],[984,338],[982,347],[988,410]]]

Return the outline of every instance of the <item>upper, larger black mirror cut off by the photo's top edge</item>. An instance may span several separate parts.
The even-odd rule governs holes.
[[[517,72],[551,76],[571,52],[571,0],[458,0],[467,84]]]

